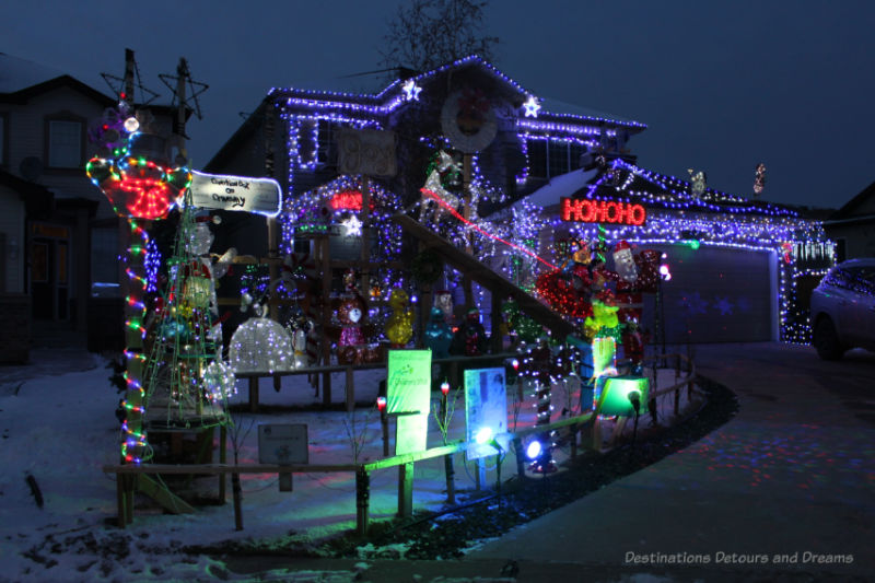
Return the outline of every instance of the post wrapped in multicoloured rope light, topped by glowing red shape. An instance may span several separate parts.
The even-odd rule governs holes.
[[[171,167],[164,139],[138,131],[140,124],[130,114],[124,101],[117,109],[104,113],[103,123],[92,129],[98,152],[89,161],[85,172],[130,226],[130,245],[125,257],[129,285],[125,308],[127,390],[122,401],[127,416],[121,423],[121,458],[139,464],[147,452],[143,430],[147,229],[149,221],[166,218],[179,193],[191,182],[191,173],[184,166]]]

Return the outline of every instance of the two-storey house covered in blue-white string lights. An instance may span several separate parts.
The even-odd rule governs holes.
[[[656,326],[668,342],[804,341],[807,323],[794,299],[796,282],[831,261],[831,244],[804,209],[693,188],[649,171],[630,147],[644,124],[539,96],[477,56],[371,90],[330,85],[271,89],[207,165],[210,172],[280,182],[285,206],[277,224],[237,213],[219,236],[242,245],[242,253],[312,257],[323,271],[326,299],[342,291],[343,269],[363,270],[363,288],[386,289],[398,281],[393,259],[416,265],[418,249],[433,245],[406,229],[393,256],[374,259],[366,247],[383,241],[374,231],[393,231],[388,222],[371,223],[363,201],[378,189],[387,194],[383,200],[397,201],[389,211],[433,207],[422,188],[438,164],[442,172],[458,170],[455,185],[447,186],[453,196],[467,197],[457,224],[502,242],[481,249],[479,268],[516,265],[504,259],[535,255],[532,248],[536,259],[556,268],[568,258],[571,241],[622,238],[658,248],[674,261],[670,293],[666,283],[658,310],[651,312],[658,314]],[[452,161],[440,166],[439,152]],[[596,222],[561,220],[562,199],[608,211],[595,213],[602,217]],[[544,211],[520,210],[523,201]],[[641,221],[616,220],[620,206],[640,207]],[[371,231],[350,238],[338,225],[352,214],[371,223]],[[535,215],[537,232],[522,233],[517,228]],[[520,244],[503,246],[512,237]],[[458,240],[470,246],[469,235]],[[477,303],[494,328],[495,290],[482,294],[468,281],[448,279],[445,272],[440,283],[458,283],[457,303]],[[526,287],[516,275],[508,279]]]

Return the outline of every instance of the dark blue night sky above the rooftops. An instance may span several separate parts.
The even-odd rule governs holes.
[[[377,69],[399,3],[11,0],[0,53],[109,93],[100,73],[121,77],[131,48],[163,103],[158,74],[185,57],[210,85],[187,128],[198,168],[271,86]],[[763,199],[838,208],[875,180],[873,26],[865,0],[492,0],[486,32],[527,91],[646,124],[641,166],[751,196],[763,162]]]

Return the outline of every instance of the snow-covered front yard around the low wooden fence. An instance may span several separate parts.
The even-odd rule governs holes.
[[[231,573],[221,561],[180,552],[185,545],[209,545],[224,540],[254,539],[299,544],[348,530],[355,524],[355,487],[351,473],[296,474],[294,490],[280,492],[277,475],[244,475],[243,530],[235,530],[231,488],[224,505],[198,506],[195,514],[163,514],[138,499],[135,522],[126,529],[115,526],[115,478],[102,471],[117,458],[118,422],[114,411],[119,395],[108,381],[110,371],[97,355],[82,353],[80,369],[58,375],[43,366],[32,380],[11,382],[0,369],[0,581],[247,581]],[[90,370],[82,371],[81,369]],[[357,400],[374,403],[383,371],[360,371],[355,376]],[[674,382],[664,371],[660,384]],[[343,377],[332,377],[337,403],[343,399]],[[245,382],[232,403],[247,399]],[[311,464],[341,464],[353,459],[353,436],[363,443],[359,462],[382,457],[382,433],[376,408],[343,411],[307,411],[273,406],[320,403],[305,377],[287,376],[282,389],[261,382],[260,401],[266,412],[233,413],[240,431],[241,464],[257,463],[257,424],[306,423]],[[512,390],[509,388],[509,427],[513,429]],[[517,427],[534,424],[534,398],[526,390]],[[669,408],[669,397],[661,410]],[[552,397],[558,419],[565,404],[576,404],[557,386]],[[450,439],[464,436],[464,404],[459,399]],[[642,419],[645,423],[646,419]],[[631,423],[630,423],[631,425]],[[436,423],[431,424],[429,445],[442,443]],[[629,429],[629,428],[627,428]],[[218,433],[217,433],[218,434]],[[561,457],[563,452],[558,452]],[[229,445],[229,459],[233,459]],[[218,459],[218,457],[217,457]],[[513,468],[512,454],[505,468]],[[488,485],[494,485],[494,468],[488,464]],[[474,464],[456,456],[457,491],[474,489]],[[503,471],[506,476],[508,469]],[[28,477],[33,479],[30,480]],[[197,489],[215,495],[214,478],[199,478]],[[43,506],[36,503],[31,483],[38,486]],[[416,465],[413,508],[439,510],[446,500],[441,459]],[[371,517],[387,518],[397,510],[397,471],[371,476]],[[362,559],[368,555],[363,551]],[[260,580],[351,581],[354,571],[276,572]],[[265,579],[268,578],[268,579]],[[273,579],[276,578],[276,579]]]

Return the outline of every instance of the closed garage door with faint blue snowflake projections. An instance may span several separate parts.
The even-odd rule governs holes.
[[[772,254],[687,245],[646,247],[668,255],[672,280],[663,283],[667,343],[773,339]],[[656,329],[654,306],[655,296],[645,295],[643,319],[650,330]],[[654,336],[653,341],[661,339]]]

